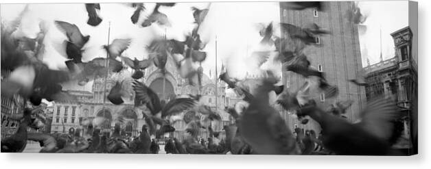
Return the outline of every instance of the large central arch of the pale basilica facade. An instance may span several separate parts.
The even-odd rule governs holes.
[[[163,93],[163,86],[165,86],[164,93]],[[159,96],[160,99],[170,100],[176,96],[174,91],[174,86],[172,86],[172,83],[163,77],[154,79],[154,81],[152,81],[150,84],[150,88],[154,92],[156,92],[156,94]]]

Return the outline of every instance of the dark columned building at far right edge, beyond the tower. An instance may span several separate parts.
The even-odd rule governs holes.
[[[366,99],[384,95],[393,99],[401,110],[402,133],[395,147],[412,148],[413,114],[417,114],[417,62],[412,53],[413,34],[404,27],[391,34],[395,43],[395,57],[365,67]],[[416,57],[417,58],[417,57]]]

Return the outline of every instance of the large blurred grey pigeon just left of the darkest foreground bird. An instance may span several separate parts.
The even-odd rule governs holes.
[[[244,140],[258,154],[297,154],[296,142],[279,113],[270,107],[268,92],[276,80],[270,77],[257,88],[257,94],[240,120]]]

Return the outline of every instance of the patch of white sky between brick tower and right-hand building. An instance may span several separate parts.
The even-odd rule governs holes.
[[[367,30],[360,36],[362,66],[380,62],[380,29],[382,29],[382,56],[387,60],[395,56],[391,34],[408,26],[408,1],[360,1],[362,13],[369,14],[364,22]],[[368,52],[365,52],[367,49]]]

